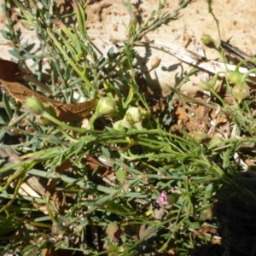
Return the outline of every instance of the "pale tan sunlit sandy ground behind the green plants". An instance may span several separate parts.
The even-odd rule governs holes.
[[[143,19],[147,19],[153,9],[157,8],[158,1],[143,0],[133,1],[140,3],[139,8],[143,12]],[[166,2],[166,11],[173,12],[177,9],[178,3],[181,1],[168,0]],[[256,35],[254,32],[254,17],[256,12],[256,1],[243,0],[214,0],[212,1],[212,9],[219,20],[221,38],[223,40],[230,39],[230,44],[236,45],[243,51],[254,54]],[[3,3],[3,0],[0,0]],[[111,3],[111,4],[109,4]],[[99,11],[101,10],[101,11]],[[127,25],[130,20],[127,9],[121,0],[107,1],[102,0],[90,4],[87,9],[88,32],[92,42],[96,47],[106,54],[108,49],[113,46],[113,39],[124,40],[127,34]],[[166,44],[172,43],[184,47],[186,42],[183,40],[184,33],[196,42],[201,42],[203,34],[210,34],[217,42],[218,30],[212,15],[208,13],[207,1],[197,0],[189,3],[188,7],[181,9],[179,15],[182,17],[178,20],[172,20],[167,26],[163,25],[160,29],[150,32],[148,40],[160,40]],[[0,13],[0,28],[4,29],[5,18],[3,11]],[[20,26],[23,40],[37,44],[37,37],[34,31],[28,31]],[[215,49],[207,48],[202,45],[205,50],[207,60],[218,60],[219,55]],[[3,59],[10,60],[12,56],[9,54],[10,46],[8,42],[0,36],[0,51]],[[195,46],[189,44],[189,50],[195,52]],[[176,57],[166,54],[158,49],[145,49],[138,47],[139,56],[137,58],[137,66],[143,72],[150,68],[150,60],[155,56],[160,57],[160,66],[154,71],[148,73],[146,78],[148,85],[154,90],[168,90],[168,86],[173,85],[177,78],[181,77],[183,72],[191,69],[189,65],[182,63]],[[182,65],[181,65],[182,64]],[[192,78],[183,86],[183,90],[193,90],[192,82],[198,82],[200,77]]]

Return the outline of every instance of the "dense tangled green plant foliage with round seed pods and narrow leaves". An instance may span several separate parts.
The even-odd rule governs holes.
[[[73,0],[73,9],[61,13],[57,2],[3,4],[2,33],[13,44],[10,53],[21,70],[50,88],[41,91],[50,100],[26,95],[20,104],[2,93],[1,255],[222,255],[239,238],[246,245],[239,214],[241,205],[248,216],[255,211],[254,180],[233,156],[256,143],[255,122],[243,114],[253,102],[236,105],[232,113],[240,135],[251,137],[209,140],[199,133],[191,137],[186,129],[172,132],[175,120],[166,124],[162,113],[153,114],[137,85],[134,44],[170,20],[178,22],[179,10],[190,1],[180,1],[172,13],[160,1],[141,22],[139,10],[125,2],[129,37],[106,56],[87,34],[89,3]],[[36,32],[39,49],[21,40],[16,22]],[[172,115],[177,98],[166,99],[164,114]],[[95,108],[86,105],[91,100]],[[68,121],[58,118],[60,104],[83,101],[70,108]],[[86,112],[83,125],[71,118],[80,112]],[[254,229],[255,221],[250,225]],[[243,250],[251,253],[250,247]]]

